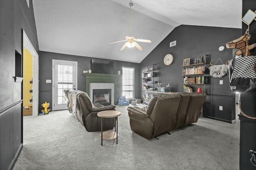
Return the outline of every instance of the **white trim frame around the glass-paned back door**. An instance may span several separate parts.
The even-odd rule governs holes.
[[[73,63],[73,64],[76,64],[76,70],[74,70],[74,73],[76,75],[76,80],[75,80],[75,83],[76,83],[76,89],[78,89],[78,85],[77,85],[77,70],[78,70],[78,63],[77,61],[65,61],[65,60],[56,60],[56,59],[52,59],[52,111],[54,111],[54,99],[55,99],[55,96],[54,96],[54,83],[55,83],[55,70],[54,70],[54,63],[55,62],[62,62],[62,63]]]

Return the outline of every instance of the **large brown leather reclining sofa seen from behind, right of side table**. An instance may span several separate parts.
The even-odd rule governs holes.
[[[206,94],[180,92],[154,96],[148,106],[127,108],[130,127],[138,135],[152,139],[176,128],[196,123]]]

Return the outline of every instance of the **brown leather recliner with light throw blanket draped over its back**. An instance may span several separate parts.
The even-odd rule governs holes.
[[[68,103],[68,110],[85,127],[88,132],[101,131],[101,118],[97,113],[104,110],[115,110],[115,105],[103,106],[92,103],[86,92],[80,90],[64,90],[65,98]],[[103,130],[113,129],[115,126],[114,118],[104,118]]]

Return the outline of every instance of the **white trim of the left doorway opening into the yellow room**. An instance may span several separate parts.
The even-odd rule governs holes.
[[[33,56],[33,92],[32,92],[32,116],[38,116],[38,53],[28,39],[23,29],[23,49],[27,49]],[[23,54],[22,54],[23,55]],[[23,95],[23,94],[22,94]]]

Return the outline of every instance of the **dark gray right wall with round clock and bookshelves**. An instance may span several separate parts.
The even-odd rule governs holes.
[[[241,36],[241,29],[223,28],[223,27],[205,27],[193,25],[180,25],[176,27],[141,63],[140,70],[144,70],[144,66],[148,68],[156,64],[155,81],[170,83],[172,92],[183,91],[182,64],[184,58],[197,59],[205,54],[210,55],[211,63],[215,64],[220,58],[223,63],[234,57],[232,49],[224,49],[219,51],[220,46],[225,46],[228,41],[232,41]],[[176,41],[176,46],[170,47],[170,42]],[[174,55],[174,62],[166,66],[163,63],[166,54]],[[191,63],[192,64],[192,63]],[[222,64],[218,62],[216,65]],[[146,68],[147,68],[146,67]],[[207,66],[207,68],[209,65]],[[230,122],[235,119],[233,104],[234,93],[229,87],[228,75],[222,78],[210,77],[210,84],[206,84],[206,93],[208,102],[207,110],[204,110],[205,117]],[[219,81],[223,80],[223,85]],[[141,83],[141,82],[140,82]],[[155,86],[156,87],[156,86]],[[197,92],[198,87],[193,88]],[[142,91],[142,94],[144,91]],[[141,94],[141,96],[142,96]],[[219,98],[229,100],[223,104],[223,111],[216,115],[219,105],[216,103]],[[229,104],[232,103],[232,109]],[[221,115],[221,117],[219,116]]]

